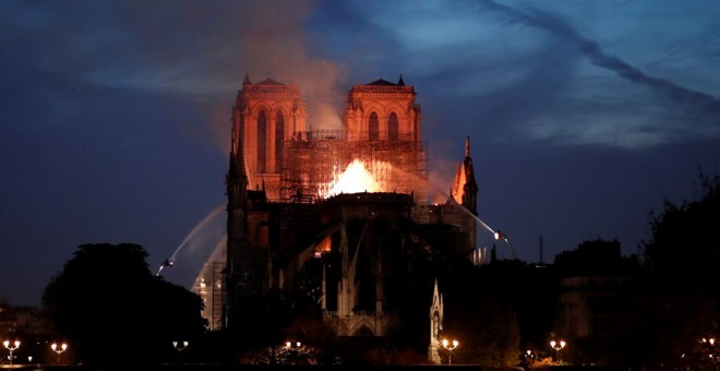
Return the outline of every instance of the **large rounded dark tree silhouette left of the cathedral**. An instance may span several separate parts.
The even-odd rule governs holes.
[[[204,332],[202,300],[154,276],[133,243],[80,246],[43,295],[55,332],[94,364],[159,362]]]

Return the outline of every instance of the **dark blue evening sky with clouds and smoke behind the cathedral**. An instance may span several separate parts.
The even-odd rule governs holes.
[[[314,129],[403,74],[437,195],[469,135],[480,217],[527,262],[540,236],[548,263],[598,238],[637,253],[650,212],[720,173],[717,0],[2,0],[0,52],[11,304],[83,243],[142,244],[155,271],[188,240],[166,276],[188,285],[223,235],[245,73],[297,84]]]

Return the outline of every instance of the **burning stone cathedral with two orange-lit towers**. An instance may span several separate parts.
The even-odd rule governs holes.
[[[231,116],[227,250],[206,273],[217,283],[205,292],[211,326],[239,326],[254,298],[284,292],[314,303],[337,336],[388,336],[422,312],[436,355],[442,309],[427,262],[485,254],[469,137],[451,194],[430,204],[416,97],[401,76],[355,85],[343,128],[314,129],[297,86],[245,76]]]

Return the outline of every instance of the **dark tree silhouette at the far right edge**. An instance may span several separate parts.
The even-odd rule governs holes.
[[[651,214],[652,237],[643,242],[649,272],[650,314],[658,362],[699,368],[703,337],[718,337],[720,297],[720,177],[699,175],[697,201],[664,203]],[[699,362],[699,363],[698,363]]]

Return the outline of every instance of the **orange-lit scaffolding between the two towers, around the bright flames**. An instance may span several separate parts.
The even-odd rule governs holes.
[[[428,200],[428,155],[409,134],[368,132],[297,132],[284,142],[280,199],[289,203],[322,200],[337,177],[353,160],[361,160],[381,184],[382,192],[413,194],[419,204]]]

